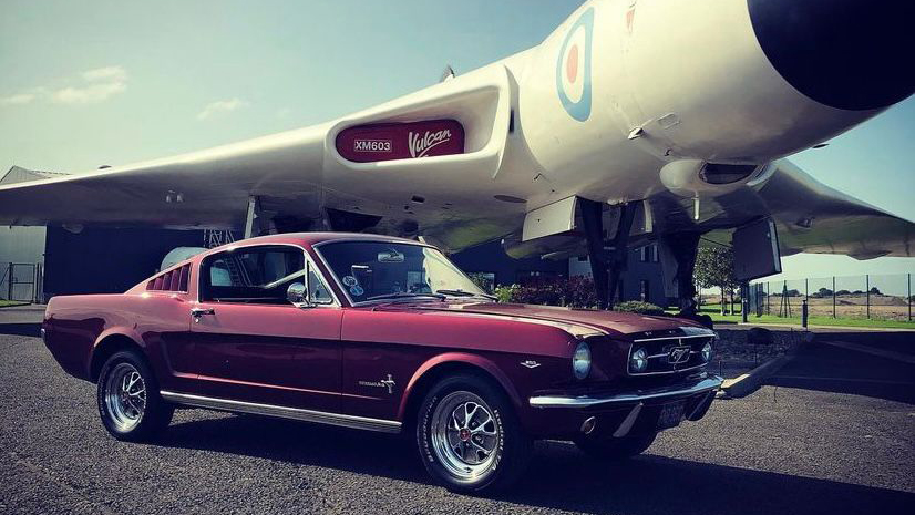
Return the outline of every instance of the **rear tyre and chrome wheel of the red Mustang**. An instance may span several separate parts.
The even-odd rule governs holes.
[[[172,422],[174,406],[158,394],[158,382],[136,351],[112,354],[96,383],[102,424],[117,440],[152,440]]]

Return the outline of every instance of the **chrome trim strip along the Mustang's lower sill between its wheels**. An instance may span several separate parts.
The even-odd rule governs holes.
[[[230,401],[209,396],[191,395],[168,391],[158,392],[163,399],[177,404],[209,410],[253,413],[256,415],[276,416],[279,419],[300,420],[318,424],[339,425],[382,433],[400,433],[401,423],[395,420],[369,419],[366,416],[327,413],[323,411],[302,410],[299,408],[278,406],[273,404],[257,404],[254,402]]]

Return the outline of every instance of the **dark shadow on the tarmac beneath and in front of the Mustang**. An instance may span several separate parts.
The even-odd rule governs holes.
[[[257,416],[173,424],[158,445],[234,453],[430,484],[409,439]],[[596,463],[541,442],[527,472],[496,499],[586,513],[887,513],[915,494],[648,454]]]

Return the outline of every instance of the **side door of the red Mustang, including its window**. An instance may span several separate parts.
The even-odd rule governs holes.
[[[286,299],[311,286],[311,307]],[[305,250],[239,247],[201,264],[192,310],[194,393],[224,400],[339,412],[342,312]]]

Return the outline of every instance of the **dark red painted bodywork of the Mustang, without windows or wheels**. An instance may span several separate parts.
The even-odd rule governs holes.
[[[331,279],[312,245],[330,239],[395,238],[288,234],[234,244],[295,245],[317,264],[342,306],[198,302],[201,260],[191,265],[187,291],[148,291],[147,279],[121,295],[54,297],[43,329],[45,343],[70,374],[94,381],[93,357],[112,342],[142,349],[162,390],[263,404],[407,421],[424,394],[424,379],[464,367],[497,381],[534,436],[574,434],[577,410],[537,410],[534,394],[625,391],[661,380],[627,374],[633,334],[693,323],[662,317],[479,300],[391,301],[353,307]],[[164,271],[163,274],[167,272]],[[195,322],[192,308],[214,308]],[[580,339],[594,364],[573,378],[572,354]],[[521,365],[534,360],[536,368]],[[366,385],[391,375],[394,385]],[[655,381],[654,383],[651,381]],[[428,383],[428,381],[425,381]]]

